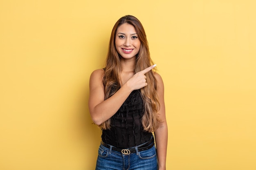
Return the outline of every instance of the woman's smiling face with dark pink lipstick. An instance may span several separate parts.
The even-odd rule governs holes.
[[[131,59],[139,53],[140,40],[131,24],[122,24],[117,28],[115,35],[115,44],[117,52],[124,59]]]

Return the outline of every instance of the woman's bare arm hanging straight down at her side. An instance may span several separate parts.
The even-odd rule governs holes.
[[[164,82],[162,77],[155,73],[157,79],[157,94],[159,97],[159,118],[160,125],[155,130],[155,143],[157,147],[157,159],[158,159],[158,170],[166,170],[166,153],[167,153],[167,141],[168,141],[168,129],[165,116],[165,104],[164,104]]]

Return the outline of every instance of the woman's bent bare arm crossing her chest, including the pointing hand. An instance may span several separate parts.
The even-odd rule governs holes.
[[[133,75],[114,95],[106,100],[104,100],[105,93],[102,82],[104,70],[99,69],[93,71],[89,83],[89,111],[92,121],[94,121],[95,124],[100,125],[115,115],[133,90],[140,89],[147,85],[146,76],[144,74],[154,67],[155,65],[150,66]]]

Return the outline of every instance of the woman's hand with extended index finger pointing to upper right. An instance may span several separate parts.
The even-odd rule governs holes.
[[[155,66],[156,64],[136,73],[130,79],[128,79],[126,85],[132,88],[132,90],[138,90],[145,87],[146,85],[148,85],[146,82],[147,77],[145,74],[148,73],[148,71],[152,70]]]

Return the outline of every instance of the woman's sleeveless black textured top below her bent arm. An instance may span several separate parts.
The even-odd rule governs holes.
[[[117,113],[111,117],[111,128],[102,130],[102,141],[117,148],[130,148],[149,141],[152,133],[146,132],[142,126],[143,114],[141,91],[132,91]]]

